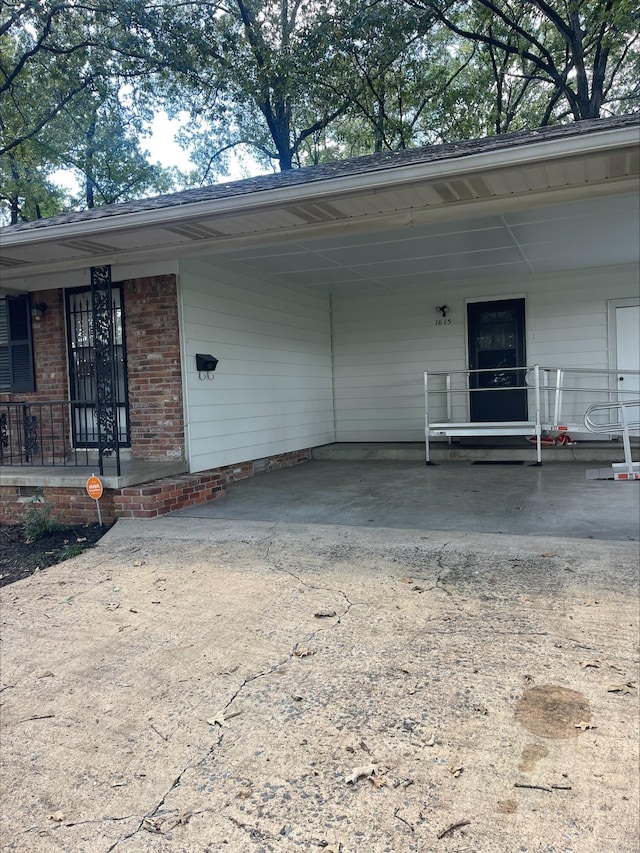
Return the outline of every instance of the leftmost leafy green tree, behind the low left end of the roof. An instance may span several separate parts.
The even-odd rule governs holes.
[[[135,0],[119,2],[114,16],[112,5],[3,4],[0,200],[12,223],[173,185],[139,145],[151,117],[132,86],[147,68],[132,17],[139,7]],[[81,198],[55,185],[59,170],[82,184]]]

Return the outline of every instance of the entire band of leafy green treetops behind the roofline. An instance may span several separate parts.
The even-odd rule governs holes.
[[[208,183],[239,152],[286,170],[630,112],[637,21],[631,0],[4,0],[2,215]],[[160,110],[188,115],[187,175],[144,150]]]

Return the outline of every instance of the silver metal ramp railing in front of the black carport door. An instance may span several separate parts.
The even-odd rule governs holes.
[[[640,381],[640,370],[625,370],[624,374],[629,378],[637,377]],[[637,427],[635,415],[620,415],[616,421],[613,413],[616,410],[627,414],[634,412],[634,407],[640,407],[640,399],[635,399],[639,396],[637,390],[621,390],[618,378],[619,371],[616,370],[541,367],[537,364],[499,370],[425,371],[426,463],[431,464],[430,442],[434,438],[451,439],[455,436],[531,436],[535,438],[538,465],[542,464],[543,433],[571,431],[612,437],[622,435],[623,441],[630,447],[629,432]],[[530,414],[527,420],[470,420],[472,395],[513,391],[526,395]],[[594,406],[600,408],[594,409]],[[597,428],[594,428],[593,418],[586,419],[589,411],[592,414],[595,411],[608,411],[610,420],[608,423],[598,423]],[[625,418],[626,439],[624,429],[620,426]]]

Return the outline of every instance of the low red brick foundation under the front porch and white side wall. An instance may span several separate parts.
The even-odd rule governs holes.
[[[123,489],[105,489],[100,499],[102,520],[111,524],[118,518],[157,518],[177,509],[215,500],[237,480],[264,471],[290,468],[310,459],[310,449],[297,450],[198,474],[180,474]],[[84,488],[45,486],[42,492],[44,501],[52,506],[53,512],[60,513],[62,524],[86,524],[97,520],[95,501]],[[0,521],[9,524],[21,521],[29,505],[29,499],[21,497],[19,486],[0,486]]]

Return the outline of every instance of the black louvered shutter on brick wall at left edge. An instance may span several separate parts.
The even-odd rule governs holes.
[[[35,391],[28,294],[0,299],[0,391]]]

